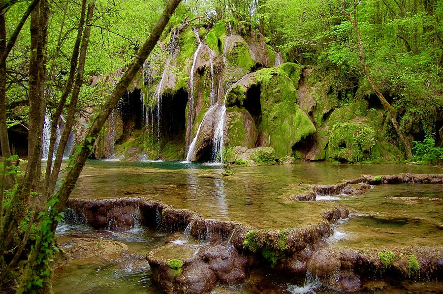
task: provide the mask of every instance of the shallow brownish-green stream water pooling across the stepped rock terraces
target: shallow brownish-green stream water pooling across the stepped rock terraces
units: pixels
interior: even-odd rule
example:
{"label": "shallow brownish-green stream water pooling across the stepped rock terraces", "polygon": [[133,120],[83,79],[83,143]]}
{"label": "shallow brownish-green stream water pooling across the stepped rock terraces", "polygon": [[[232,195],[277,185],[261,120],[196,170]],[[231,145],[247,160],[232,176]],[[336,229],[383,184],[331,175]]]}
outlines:
{"label": "shallow brownish-green stream water pooling across the stepped rock terraces", "polygon": [[[349,217],[334,226],[330,246],[361,249],[388,245],[443,244],[443,185],[378,185],[362,195],[318,197],[315,202],[286,200],[293,189],[332,184],[359,175],[442,173],[441,168],[404,164],[341,165],[301,162],[293,165],[233,167],[234,176],[220,176],[217,164],[170,161],[89,161],[71,194],[78,199],[147,197],[175,208],[197,211],[205,218],[235,221],[256,228],[285,229],[318,221],[321,209],[339,203]],[[177,234],[177,233],[176,233]],[[75,237],[116,240],[144,256],[164,244],[170,233],[135,226],[127,232],[96,231],[84,225],[60,224],[59,243]],[[203,241],[179,238],[197,248]],[[162,293],[145,261],[128,257],[120,265],[69,265],[55,270],[55,293]],[[435,292],[437,282],[395,282],[379,293]],[[245,284],[217,286],[213,293],[334,293],[315,277],[294,277],[272,268],[251,272]]]}

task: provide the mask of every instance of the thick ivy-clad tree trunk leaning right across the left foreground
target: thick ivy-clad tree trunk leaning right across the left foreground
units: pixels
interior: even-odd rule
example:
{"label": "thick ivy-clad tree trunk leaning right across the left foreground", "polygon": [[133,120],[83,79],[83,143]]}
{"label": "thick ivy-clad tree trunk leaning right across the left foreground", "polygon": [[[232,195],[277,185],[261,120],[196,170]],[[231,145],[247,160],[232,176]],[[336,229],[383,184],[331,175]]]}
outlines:
{"label": "thick ivy-clad tree trunk leaning right across the left foreground", "polygon": [[91,154],[95,140],[106,122],[106,119],[109,117],[112,109],[134,79],[136,73],[140,70],[143,62],[151,54],[151,51],[157,44],[161,33],[180,1],[181,0],[169,0],[163,14],[151,31],[148,40],[146,40],[140,48],[135,59],[129,64],[127,71],[117,83],[112,94],[106,100],[98,116],[92,122],[85,140],[80,145],[80,150],[69,163],[67,167],[68,173],[64,178],[61,187],[54,194],[52,199],[48,201],[48,205],[51,205],[51,209],[48,209],[45,214],[41,215],[40,225],[38,227],[40,234],[37,235],[35,245],[29,255],[25,276],[20,281],[18,293],[47,292],[51,288],[48,273],[50,272],[51,266],[50,259],[53,253],[52,246],[54,234],[69,195],[80,176],[80,172],[82,171],[86,160]]}

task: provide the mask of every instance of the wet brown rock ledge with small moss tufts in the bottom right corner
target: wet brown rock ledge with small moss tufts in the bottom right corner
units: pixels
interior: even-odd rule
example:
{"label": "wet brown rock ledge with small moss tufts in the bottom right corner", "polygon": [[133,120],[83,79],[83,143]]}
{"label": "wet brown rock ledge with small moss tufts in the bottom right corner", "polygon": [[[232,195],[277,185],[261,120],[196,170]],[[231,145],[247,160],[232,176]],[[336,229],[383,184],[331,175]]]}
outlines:
{"label": "wet brown rock ledge with small moss tufts in the bottom right corner", "polygon": [[314,252],[308,270],[338,291],[359,291],[362,278],[388,276],[402,279],[432,278],[442,274],[442,248],[405,247],[350,250],[323,248]]}

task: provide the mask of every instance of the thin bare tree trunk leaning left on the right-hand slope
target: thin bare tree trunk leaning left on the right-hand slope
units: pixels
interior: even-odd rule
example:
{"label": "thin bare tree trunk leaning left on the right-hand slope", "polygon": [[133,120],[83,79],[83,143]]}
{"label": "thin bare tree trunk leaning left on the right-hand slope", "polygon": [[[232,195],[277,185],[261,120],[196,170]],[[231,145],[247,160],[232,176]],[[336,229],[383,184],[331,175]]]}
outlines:
{"label": "thin bare tree trunk leaning left on the right-hand slope", "polygon": [[358,58],[360,59],[361,66],[363,67],[363,72],[365,73],[366,80],[368,80],[368,83],[371,85],[371,87],[374,90],[374,92],[376,93],[377,97],[379,97],[380,102],[383,105],[384,109],[386,109],[389,112],[389,114],[391,116],[392,125],[394,126],[394,129],[397,132],[398,137],[400,138],[400,140],[403,143],[403,146],[405,147],[406,157],[408,159],[411,159],[412,158],[411,144],[410,144],[408,138],[406,138],[405,134],[403,134],[402,130],[400,129],[400,125],[398,124],[398,121],[397,121],[397,113],[396,113],[395,109],[389,104],[389,102],[387,102],[387,100],[384,98],[383,94],[381,94],[379,88],[377,88],[376,84],[371,79],[371,75],[369,74],[368,67],[366,66],[365,56],[364,56],[364,47],[363,47],[363,38],[361,37],[360,29],[358,28],[358,24],[357,24],[357,5],[359,3],[360,3],[360,1],[354,1],[354,9],[353,9],[354,19],[352,19],[350,17],[350,15],[346,12],[345,5],[343,6],[342,14],[352,24],[352,27],[354,28],[355,33],[357,35]]}

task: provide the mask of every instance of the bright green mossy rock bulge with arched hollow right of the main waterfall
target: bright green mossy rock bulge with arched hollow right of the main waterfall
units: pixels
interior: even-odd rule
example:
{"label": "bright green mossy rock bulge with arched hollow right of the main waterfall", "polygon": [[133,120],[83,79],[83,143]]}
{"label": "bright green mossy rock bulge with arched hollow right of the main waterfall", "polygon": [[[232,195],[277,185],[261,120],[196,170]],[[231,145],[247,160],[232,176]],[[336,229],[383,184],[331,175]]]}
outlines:
{"label": "bright green mossy rock bulge with arched hollow right of the main waterfall", "polygon": [[[245,76],[227,96],[228,106],[243,106],[246,110],[252,104],[260,106],[253,116],[257,145],[273,147],[279,157],[291,155],[294,144],[316,132],[309,116],[297,105],[294,83],[298,84],[302,69],[285,63],[258,70]],[[248,95],[251,88],[259,89],[259,97]]]}

